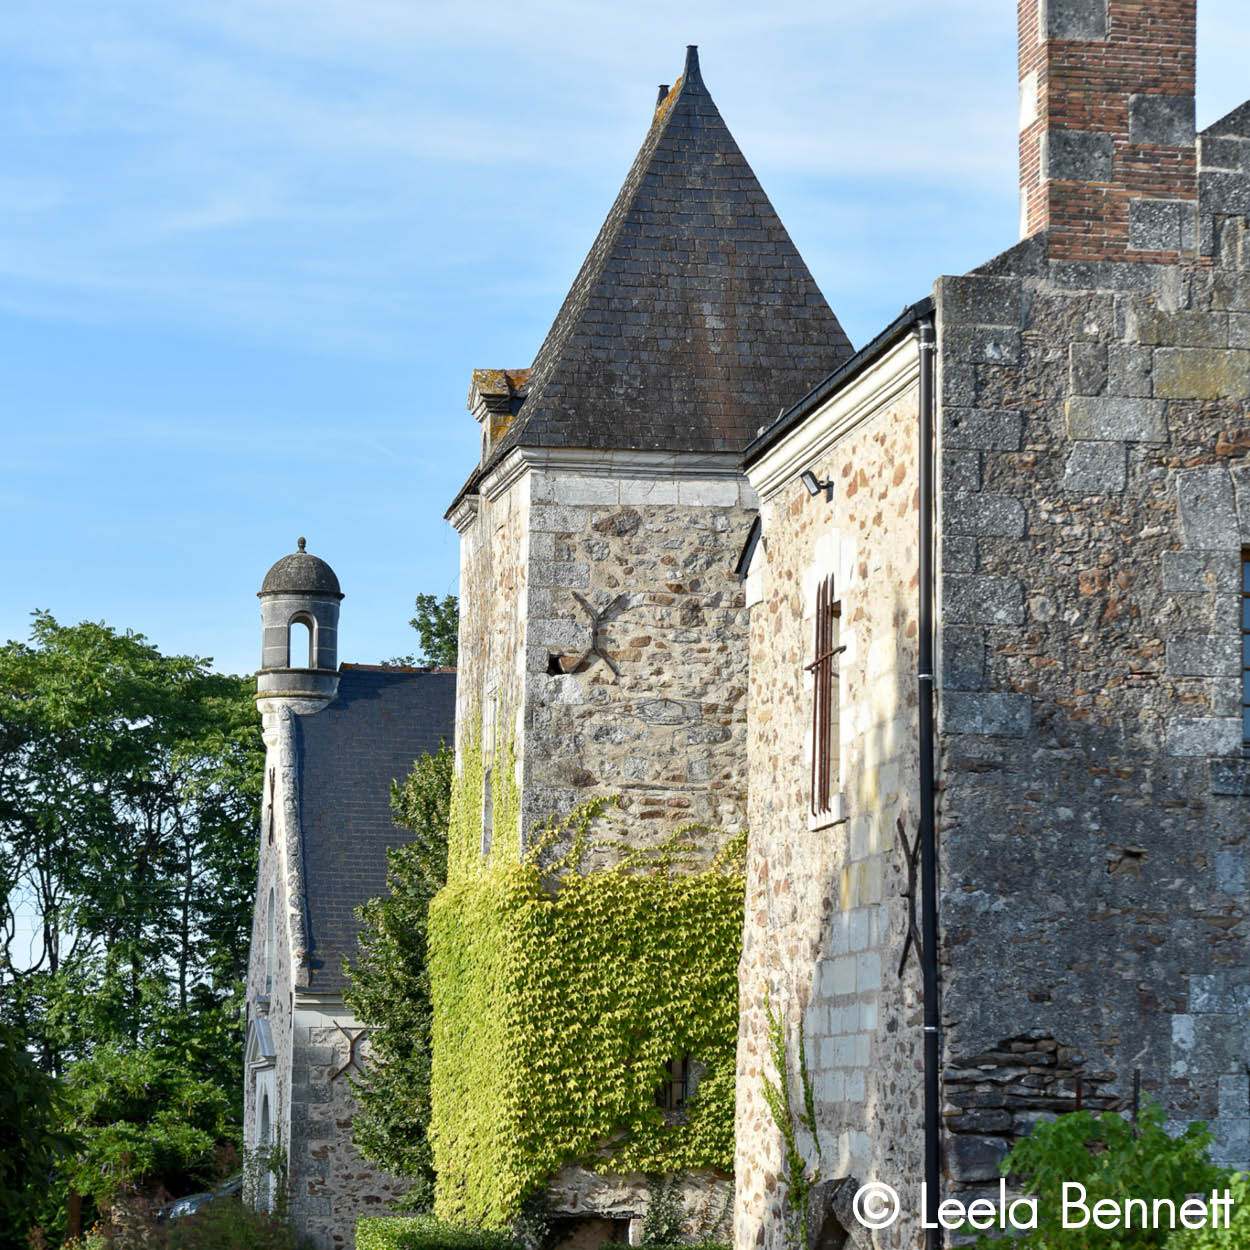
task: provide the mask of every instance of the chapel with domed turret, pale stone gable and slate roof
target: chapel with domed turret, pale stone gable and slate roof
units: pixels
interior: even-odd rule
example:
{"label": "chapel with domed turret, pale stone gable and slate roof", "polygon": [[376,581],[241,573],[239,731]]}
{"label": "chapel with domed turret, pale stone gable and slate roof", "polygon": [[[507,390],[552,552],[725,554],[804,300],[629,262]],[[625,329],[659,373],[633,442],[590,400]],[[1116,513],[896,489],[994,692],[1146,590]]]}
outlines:
{"label": "chapel with domed turret, pale stone gable and slate roof", "polygon": [[265,788],[244,1062],[244,1140],[252,1158],[281,1159],[251,1195],[288,1211],[318,1250],[350,1250],[356,1218],[408,1181],[351,1142],[351,1076],[369,1035],[344,1002],[356,956],[355,909],[386,889],[386,850],[411,839],[391,820],[390,785],[454,732],[455,672],[339,668],[334,570],[299,550],[260,589],[256,708]]}

